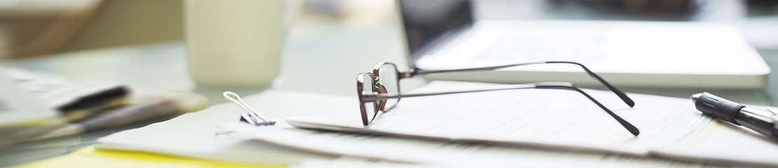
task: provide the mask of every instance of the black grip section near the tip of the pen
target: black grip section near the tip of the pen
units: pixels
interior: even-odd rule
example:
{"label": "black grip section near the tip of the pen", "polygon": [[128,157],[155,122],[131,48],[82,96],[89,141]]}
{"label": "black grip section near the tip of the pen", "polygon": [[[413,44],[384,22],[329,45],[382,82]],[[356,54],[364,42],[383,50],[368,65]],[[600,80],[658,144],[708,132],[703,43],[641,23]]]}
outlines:
{"label": "black grip section near the tip of the pen", "polygon": [[697,110],[702,111],[703,114],[708,114],[734,124],[737,124],[734,118],[738,116],[741,108],[745,107],[742,104],[725,100],[724,98],[710,93],[703,93],[695,101],[694,105],[697,107]]}

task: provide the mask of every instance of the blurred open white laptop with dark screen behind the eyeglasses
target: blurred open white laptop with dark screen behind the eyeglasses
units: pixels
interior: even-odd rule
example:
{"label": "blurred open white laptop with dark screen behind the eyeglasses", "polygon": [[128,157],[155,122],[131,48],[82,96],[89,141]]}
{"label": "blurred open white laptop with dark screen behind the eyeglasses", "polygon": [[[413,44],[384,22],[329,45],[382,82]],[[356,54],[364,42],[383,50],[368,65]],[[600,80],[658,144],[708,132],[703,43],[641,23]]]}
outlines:
{"label": "blurred open white laptop with dark screen behind the eyeglasses", "polygon": [[[398,0],[412,68],[442,70],[574,61],[615,86],[759,89],[770,68],[739,30],[722,23],[476,20],[468,0]],[[472,82],[599,86],[576,65],[426,75]]]}

